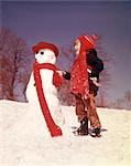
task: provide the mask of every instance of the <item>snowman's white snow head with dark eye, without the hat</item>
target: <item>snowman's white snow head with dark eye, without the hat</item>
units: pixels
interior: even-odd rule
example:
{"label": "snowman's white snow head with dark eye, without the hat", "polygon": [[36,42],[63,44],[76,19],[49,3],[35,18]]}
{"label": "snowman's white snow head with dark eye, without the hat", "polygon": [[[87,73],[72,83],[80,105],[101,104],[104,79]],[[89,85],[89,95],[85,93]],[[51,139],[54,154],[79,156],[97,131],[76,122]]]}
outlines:
{"label": "snowman's white snow head with dark eye, without the hat", "polygon": [[35,52],[35,59],[37,63],[52,63],[55,64],[56,62],[56,55],[55,53],[50,49],[41,49]]}

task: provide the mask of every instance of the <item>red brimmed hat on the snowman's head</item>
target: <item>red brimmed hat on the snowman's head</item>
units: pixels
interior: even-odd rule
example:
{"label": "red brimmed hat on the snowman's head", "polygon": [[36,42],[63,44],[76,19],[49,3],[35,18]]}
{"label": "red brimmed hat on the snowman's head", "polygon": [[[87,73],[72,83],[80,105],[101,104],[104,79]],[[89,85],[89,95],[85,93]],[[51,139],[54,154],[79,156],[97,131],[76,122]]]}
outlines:
{"label": "red brimmed hat on the snowman's head", "polygon": [[34,53],[41,49],[50,49],[55,53],[56,56],[58,55],[58,49],[54,44],[46,43],[46,42],[40,42],[36,45],[32,46],[32,51]]}

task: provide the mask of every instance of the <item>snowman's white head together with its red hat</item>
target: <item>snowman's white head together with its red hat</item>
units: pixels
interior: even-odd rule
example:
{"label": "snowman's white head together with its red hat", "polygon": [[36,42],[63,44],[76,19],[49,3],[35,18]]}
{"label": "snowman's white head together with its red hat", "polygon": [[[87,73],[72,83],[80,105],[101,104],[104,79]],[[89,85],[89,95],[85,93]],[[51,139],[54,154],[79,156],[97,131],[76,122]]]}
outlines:
{"label": "snowman's white head together with its red hat", "polygon": [[58,50],[54,44],[40,42],[32,48],[37,63],[55,64]]}

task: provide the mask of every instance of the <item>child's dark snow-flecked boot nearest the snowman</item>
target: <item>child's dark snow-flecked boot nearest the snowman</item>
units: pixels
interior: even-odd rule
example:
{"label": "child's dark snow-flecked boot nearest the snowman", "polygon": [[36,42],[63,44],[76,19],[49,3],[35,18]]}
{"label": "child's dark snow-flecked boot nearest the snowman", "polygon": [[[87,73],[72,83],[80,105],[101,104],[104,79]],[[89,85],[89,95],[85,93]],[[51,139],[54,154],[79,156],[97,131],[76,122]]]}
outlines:
{"label": "child's dark snow-flecked boot nearest the snowman", "polygon": [[84,117],[84,120],[80,121],[80,126],[77,131],[74,131],[74,134],[76,136],[88,135],[88,118],[87,117]]}

